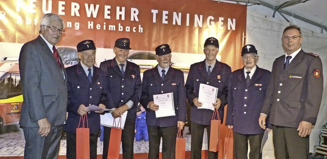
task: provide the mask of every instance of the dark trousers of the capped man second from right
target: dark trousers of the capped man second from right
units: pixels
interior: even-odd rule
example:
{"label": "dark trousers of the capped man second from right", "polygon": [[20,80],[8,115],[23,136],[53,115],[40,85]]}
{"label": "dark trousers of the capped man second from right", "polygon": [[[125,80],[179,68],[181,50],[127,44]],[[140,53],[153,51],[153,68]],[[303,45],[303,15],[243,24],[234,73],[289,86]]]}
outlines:
{"label": "dark trousers of the capped man second from right", "polygon": [[247,159],[250,145],[250,159],[261,159],[261,142],[264,134],[241,134],[233,132],[234,159]]}

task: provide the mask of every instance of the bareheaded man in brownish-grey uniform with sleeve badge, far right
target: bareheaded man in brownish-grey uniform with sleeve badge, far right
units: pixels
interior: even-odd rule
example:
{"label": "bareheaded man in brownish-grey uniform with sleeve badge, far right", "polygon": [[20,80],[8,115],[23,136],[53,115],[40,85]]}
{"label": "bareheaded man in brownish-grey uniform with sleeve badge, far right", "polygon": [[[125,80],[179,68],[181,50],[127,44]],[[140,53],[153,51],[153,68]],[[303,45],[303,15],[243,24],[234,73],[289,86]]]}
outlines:
{"label": "bareheaded man in brownish-grey uniform with sleeve badge, far right", "polygon": [[321,104],[323,78],[318,55],[301,49],[297,26],[282,36],[283,56],[275,59],[259,125],[272,124],[275,158],[308,158],[309,134]]}

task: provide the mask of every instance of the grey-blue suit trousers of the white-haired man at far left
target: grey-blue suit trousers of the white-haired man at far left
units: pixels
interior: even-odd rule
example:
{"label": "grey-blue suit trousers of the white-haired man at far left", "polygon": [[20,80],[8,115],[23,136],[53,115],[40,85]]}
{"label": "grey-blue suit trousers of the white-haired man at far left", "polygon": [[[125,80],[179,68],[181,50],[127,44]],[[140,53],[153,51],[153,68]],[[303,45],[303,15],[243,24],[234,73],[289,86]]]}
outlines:
{"label": "grey-blue suit trousers of the white-haired man at far left", "polygon": [[53,159],[58,157],[62,125],[52,126],[46,137],[38,134],[38,127],[22,127],[25,137],[25,159]]}

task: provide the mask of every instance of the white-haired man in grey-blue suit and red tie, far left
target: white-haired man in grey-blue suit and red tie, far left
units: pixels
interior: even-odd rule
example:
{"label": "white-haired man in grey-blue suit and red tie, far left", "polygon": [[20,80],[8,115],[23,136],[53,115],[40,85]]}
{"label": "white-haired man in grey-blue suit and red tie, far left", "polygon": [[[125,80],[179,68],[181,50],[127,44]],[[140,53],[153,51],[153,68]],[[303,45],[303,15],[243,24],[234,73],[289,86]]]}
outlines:
{"label": "white-haired man in grey-blue suit and red tie, far left", "polygon": [[41,19],[40,35],[22,46],[19,71],[24,102],[19,125],[24,130],[25,158],[57,158],[66,120],[66,71],[56,49],[63,31],[56,14]]}

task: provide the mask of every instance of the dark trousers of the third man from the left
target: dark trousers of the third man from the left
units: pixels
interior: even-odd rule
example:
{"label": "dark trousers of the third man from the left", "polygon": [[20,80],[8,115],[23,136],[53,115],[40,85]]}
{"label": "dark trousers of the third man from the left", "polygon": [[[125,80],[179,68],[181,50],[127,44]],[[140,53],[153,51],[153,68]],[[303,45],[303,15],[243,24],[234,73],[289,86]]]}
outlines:
{"label": "dark trousers of the third man from the left", "polygon": [[[108,156],[108,147],[110,140],[110,127],[104,127],[103,131],[103,153],[102,158],[106,159]],[[134,136],[135,136],[135,118],[126,119],[124,129],[122,131],[122,148],[123,148],[123,159],[133,159],[134,151]]]}

